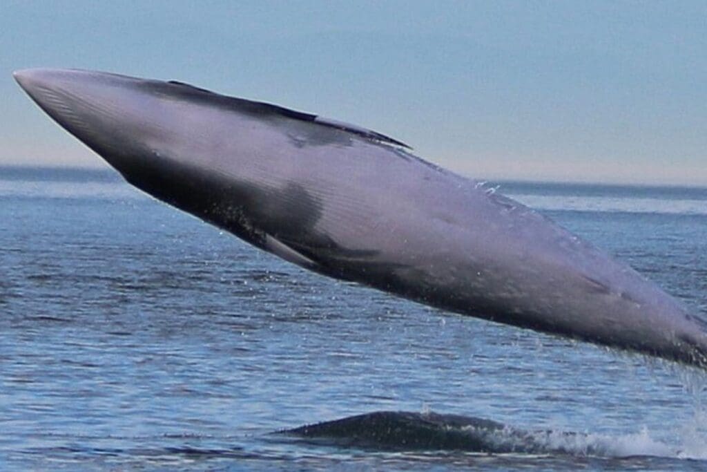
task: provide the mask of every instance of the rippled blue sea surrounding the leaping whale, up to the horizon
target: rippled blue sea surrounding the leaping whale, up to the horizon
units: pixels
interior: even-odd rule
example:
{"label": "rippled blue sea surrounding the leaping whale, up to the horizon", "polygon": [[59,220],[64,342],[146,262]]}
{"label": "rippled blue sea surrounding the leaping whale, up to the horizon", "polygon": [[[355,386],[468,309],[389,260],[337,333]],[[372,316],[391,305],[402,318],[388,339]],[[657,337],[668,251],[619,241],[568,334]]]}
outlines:
{"label": "rippled blue sea surrounding the leaping whale, up to the horizon", "polygon": [[[707,189],[498,191],[707,316]],[[0,168],[0,267],[3,469],[707,468],[700,376],[313,275],[115,173]],[[486,418],[547,447],[268,434],[375,410]]]}

